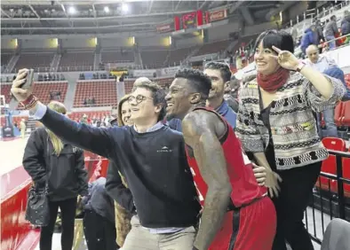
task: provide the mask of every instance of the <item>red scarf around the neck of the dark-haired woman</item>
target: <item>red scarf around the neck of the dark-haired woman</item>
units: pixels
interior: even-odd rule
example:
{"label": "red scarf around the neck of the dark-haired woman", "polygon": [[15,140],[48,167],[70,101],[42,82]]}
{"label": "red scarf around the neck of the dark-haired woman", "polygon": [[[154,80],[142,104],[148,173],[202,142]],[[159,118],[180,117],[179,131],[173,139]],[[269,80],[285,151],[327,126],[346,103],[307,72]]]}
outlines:
{"label": "red scarf around the neck of the dark-haired woman", "polygon": [[263,75],[258,73],[257,81],[261,89],[266,90],[267,92],[274,92],[287,82],[289,76],[290,71],[281,66],[273,74]]}

